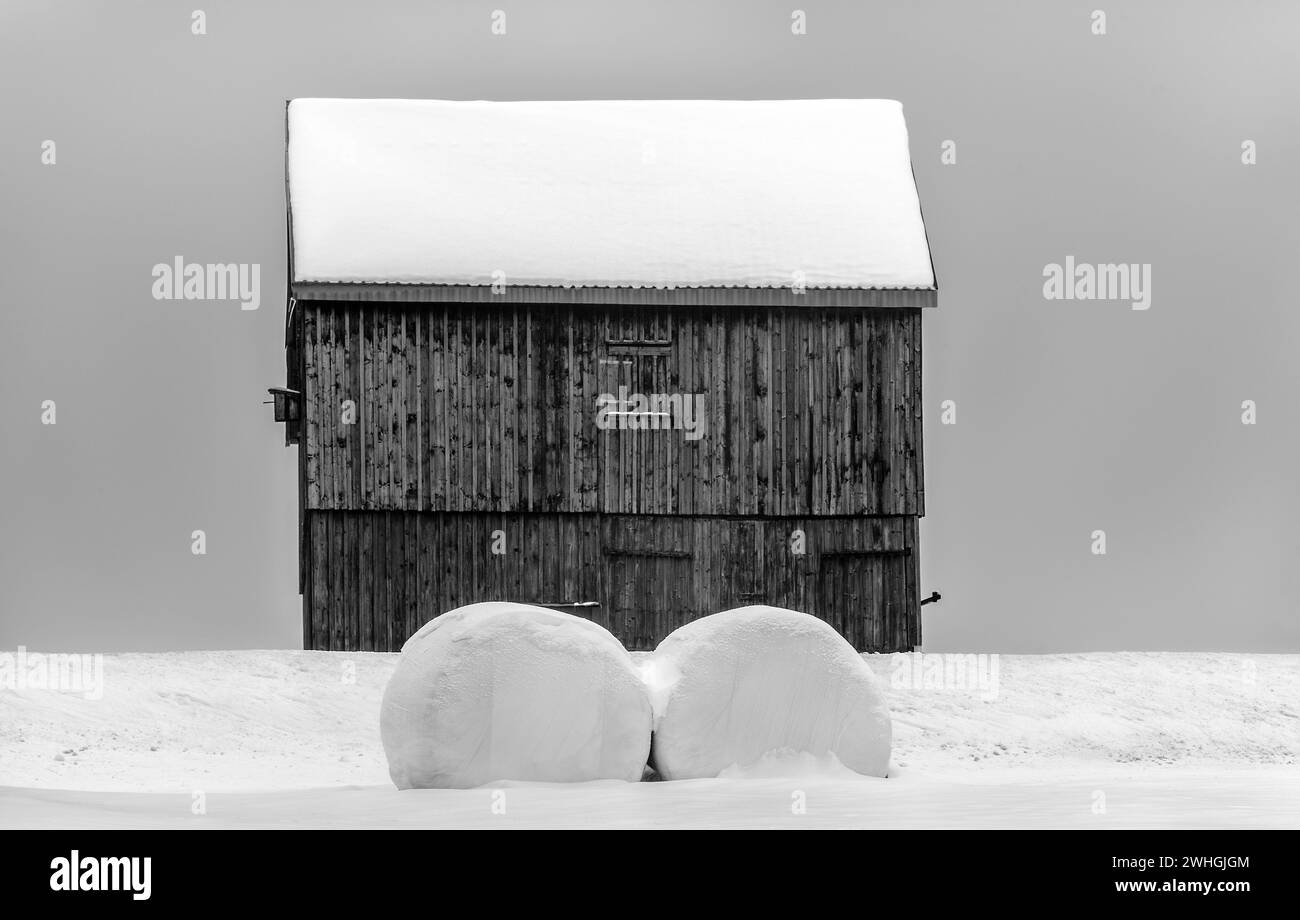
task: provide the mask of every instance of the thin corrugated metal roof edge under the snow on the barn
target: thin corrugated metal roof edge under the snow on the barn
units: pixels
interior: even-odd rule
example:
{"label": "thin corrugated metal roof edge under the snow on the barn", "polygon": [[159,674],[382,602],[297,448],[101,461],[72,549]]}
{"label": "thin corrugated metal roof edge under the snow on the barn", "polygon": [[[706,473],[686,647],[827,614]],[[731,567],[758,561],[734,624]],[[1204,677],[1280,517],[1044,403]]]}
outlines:
{"label": "thin corrugated metal roof edge under the snow on the barn", "polygon": [[656,307],[937,307],[936,287],[560,287],[298,281],[299,300],[384,303],[645,304]]}

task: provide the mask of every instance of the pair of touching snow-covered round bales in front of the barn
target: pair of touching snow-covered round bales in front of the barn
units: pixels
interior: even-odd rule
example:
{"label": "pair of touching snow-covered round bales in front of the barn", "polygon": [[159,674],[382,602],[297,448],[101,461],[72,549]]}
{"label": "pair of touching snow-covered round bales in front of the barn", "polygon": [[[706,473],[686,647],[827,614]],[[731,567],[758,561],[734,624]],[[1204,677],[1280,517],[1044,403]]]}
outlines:
{"label": "pair of touching snow-covered round bales in front of the barn", "polygon": [[875,676],[816,617],[742,607],[673,632],[641,672],[589,620],[472,604],[407,641],[381,734],[400,789],[494,780],[667,780],[801,755],[884,776],[890,726]]}

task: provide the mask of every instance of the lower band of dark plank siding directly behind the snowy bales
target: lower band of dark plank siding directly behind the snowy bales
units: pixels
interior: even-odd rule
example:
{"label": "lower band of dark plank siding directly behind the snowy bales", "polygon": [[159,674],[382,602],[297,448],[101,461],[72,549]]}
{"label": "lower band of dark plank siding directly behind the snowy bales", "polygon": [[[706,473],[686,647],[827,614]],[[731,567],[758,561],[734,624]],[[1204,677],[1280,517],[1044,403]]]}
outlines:
{"label": "lower band of dark plank siding directly behind the snowy bales", "polygon": [[395,651],[445,611],[502,599],[597,602],[568,612],[629,648],[758,603],[819,616],[861,651],[920,643],[915,517],[312,511],[306,526],[308,648]]}

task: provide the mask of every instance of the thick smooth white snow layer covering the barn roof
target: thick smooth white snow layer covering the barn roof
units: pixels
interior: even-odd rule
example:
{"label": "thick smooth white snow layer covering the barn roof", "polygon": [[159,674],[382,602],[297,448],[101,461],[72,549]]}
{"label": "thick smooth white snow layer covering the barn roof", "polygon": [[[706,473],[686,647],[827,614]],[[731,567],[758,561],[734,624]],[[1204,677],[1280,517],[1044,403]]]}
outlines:
{"label": "thick smooth white snow layer covering the barn roof", "polygon": [[935,286],[892,100],[296,99],[289,177],[299,282]]}

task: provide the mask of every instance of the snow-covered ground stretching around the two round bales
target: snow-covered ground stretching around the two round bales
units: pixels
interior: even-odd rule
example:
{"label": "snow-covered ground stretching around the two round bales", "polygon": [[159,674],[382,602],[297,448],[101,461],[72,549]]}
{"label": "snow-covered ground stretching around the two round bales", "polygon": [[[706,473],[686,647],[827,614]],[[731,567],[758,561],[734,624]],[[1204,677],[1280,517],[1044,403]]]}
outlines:
{"label": "snow-covered ground stretching around the two round bales", "polygon": [[100,699],[0,689],[0,826],[1300,826],[1297,655],[868,655],[885,780],[793,760],[408,791],[380,743],[396,659],[108,655]]}

